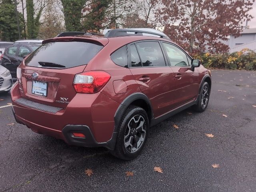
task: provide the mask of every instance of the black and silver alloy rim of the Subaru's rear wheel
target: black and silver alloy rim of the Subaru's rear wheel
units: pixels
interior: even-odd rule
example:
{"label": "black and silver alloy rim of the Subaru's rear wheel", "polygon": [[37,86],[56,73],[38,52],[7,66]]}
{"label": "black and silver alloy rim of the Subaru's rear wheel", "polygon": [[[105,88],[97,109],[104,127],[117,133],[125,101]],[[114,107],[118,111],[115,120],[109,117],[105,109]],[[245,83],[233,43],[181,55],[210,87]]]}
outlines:
{"label": "black and silver alloy rim of the Subaru's rear wheel", "polygon": [[125,134],[124,146],[130,153],[138,151],[146,136],[146,122],[141,115],[135,115],[129,121]]}

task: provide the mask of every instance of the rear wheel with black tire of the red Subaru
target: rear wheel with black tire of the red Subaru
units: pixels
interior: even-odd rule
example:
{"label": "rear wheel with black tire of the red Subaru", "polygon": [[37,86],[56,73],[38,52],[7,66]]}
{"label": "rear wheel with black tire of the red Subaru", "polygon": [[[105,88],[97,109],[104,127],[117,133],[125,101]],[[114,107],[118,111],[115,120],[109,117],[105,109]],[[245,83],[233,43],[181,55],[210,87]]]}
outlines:
{"label": "rear wheel with black tire of the red Subaru", "polygon": [[146,111],[137,106],[129,106],[119,124],[116,146],[110,153],[122,160],[136,158],[146,144],[149,120]]}

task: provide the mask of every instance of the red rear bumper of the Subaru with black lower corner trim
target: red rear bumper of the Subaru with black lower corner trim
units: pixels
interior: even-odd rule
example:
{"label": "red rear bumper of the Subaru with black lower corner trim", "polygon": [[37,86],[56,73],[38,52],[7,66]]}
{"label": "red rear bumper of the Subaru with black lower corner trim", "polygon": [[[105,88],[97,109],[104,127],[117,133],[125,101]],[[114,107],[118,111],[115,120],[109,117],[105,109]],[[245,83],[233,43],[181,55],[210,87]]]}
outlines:
{"label": "red rear bumper of the Subaru with black lower corner trim", "polygon": [[[77,94],[65,109],[56,113],[46,111],[48,108],[42,104],[20,100],[17,84],[13,86],[11,96],[16,121],[32,131],[62,139],[71,145],[114,149],[114,114],[119,104],[104,94]],[[38,108],[32,107],[34,105]],[[72,132],[83,133],[86,137],[76,138]]]}

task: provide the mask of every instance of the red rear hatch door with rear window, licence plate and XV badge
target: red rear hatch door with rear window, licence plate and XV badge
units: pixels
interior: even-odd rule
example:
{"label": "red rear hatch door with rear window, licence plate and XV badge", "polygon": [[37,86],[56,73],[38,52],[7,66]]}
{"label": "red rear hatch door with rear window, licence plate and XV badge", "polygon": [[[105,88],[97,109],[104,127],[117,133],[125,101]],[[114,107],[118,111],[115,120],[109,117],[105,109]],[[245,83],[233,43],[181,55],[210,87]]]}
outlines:
{"label": "red rear hatch door with rear window, licence plate and XV badge", "polygon": [[28,56],[21,68],[20,93],[27,100],[66,108],[74,98],[74,76],[103,48],[99,42],[54,41]]}

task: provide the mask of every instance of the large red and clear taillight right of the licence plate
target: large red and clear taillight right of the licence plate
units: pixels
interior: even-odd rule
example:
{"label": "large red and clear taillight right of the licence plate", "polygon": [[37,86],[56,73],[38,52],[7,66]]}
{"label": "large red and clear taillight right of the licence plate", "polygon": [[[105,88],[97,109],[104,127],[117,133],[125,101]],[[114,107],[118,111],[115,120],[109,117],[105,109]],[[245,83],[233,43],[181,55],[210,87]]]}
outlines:
{"label": "large red and clear taillight right of the licence plate", "polygon": [[96,93],[108,82],[110,74],[105,71],[88,71],[76,74],[74,89],[77,93]]}

